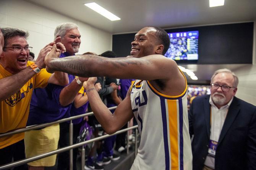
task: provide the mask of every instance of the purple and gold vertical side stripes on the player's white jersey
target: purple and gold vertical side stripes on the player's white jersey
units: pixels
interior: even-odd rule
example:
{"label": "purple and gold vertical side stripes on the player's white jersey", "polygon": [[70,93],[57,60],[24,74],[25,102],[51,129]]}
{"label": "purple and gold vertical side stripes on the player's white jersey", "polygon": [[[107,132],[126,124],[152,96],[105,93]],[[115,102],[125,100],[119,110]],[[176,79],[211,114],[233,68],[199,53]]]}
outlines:
{"label": "purple and gold vertical side stripes on the player's white jersey", "polygon": [[[162,122],[163,122],[165,169],[169,170],[171,166],[172,170],[175,170],[175,169],[183,170],[182,99],[178,99],[179,110],[177,110],[177,100],[165,100],[163,97],[160,97],[160,103],[161,103]],[[168,111],[168,114],[167,114],[167,111]],[[177,114],[177,111],[178,111],[178,114]],[[167,123],[167,119],[169,123]],[[179,125],[178,125],[178,121],[179,121]],[[169,130],[167,129],[168,127],[169,127]],[[168,134],[168,131],[169,131],[169,134]],[[171,157],[171,161],[170,161],[170,157]]]}

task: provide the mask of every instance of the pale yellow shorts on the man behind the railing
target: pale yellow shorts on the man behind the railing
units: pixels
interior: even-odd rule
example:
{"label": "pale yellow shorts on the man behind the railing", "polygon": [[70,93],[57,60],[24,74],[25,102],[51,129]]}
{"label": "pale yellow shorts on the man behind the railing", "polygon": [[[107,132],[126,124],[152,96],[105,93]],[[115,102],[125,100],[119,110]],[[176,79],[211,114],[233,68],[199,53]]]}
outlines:
{"label": "pale yellow shorts on the man behind the railing", "polygon": [[[47,153],[58,148],[60,138],[60,125],[54,124],[40,130],[31,130],[25,132],[25,153],[26,158]],[[33,167],[51,167],[55,165],[56,154],[48,156],[33,162],[28,165]]]}

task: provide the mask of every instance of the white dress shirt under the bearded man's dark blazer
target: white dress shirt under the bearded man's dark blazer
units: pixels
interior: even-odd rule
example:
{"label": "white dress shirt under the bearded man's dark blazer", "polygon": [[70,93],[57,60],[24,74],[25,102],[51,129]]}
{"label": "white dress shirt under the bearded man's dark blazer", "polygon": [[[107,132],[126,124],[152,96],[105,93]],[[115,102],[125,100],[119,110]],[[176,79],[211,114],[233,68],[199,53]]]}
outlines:
{"label": "white dress shirt under the bearded man's dark blazer", "polygon": [[[214,102],[212,101],[212,97],[210,97],[209,103],[211,104],[211,131],[210,131],[210,140],[219,141],[220,132],[222,130],[222,127],[224,125],[228,108],[233,100],[232,99],[227,103],[227,105],[222,106],[220,109],[215,106]],[[215,168],[214,165],[215,158],[213,156],[209,156],[209,154],[206,156],[204,165],[207,167],[210,167],[212,169]]]}

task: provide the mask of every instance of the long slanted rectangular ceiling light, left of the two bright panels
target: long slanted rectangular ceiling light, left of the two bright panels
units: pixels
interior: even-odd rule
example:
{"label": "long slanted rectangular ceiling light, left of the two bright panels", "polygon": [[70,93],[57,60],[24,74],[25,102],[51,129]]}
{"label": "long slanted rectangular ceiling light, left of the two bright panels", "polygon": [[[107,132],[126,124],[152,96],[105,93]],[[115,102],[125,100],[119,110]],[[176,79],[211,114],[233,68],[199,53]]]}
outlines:
{"label": "long slanted rectangular ceiling light, left of the two bright panels", "polygon": [[106,17],[111,21],[120,20],[120,17],[115,16],[114,14],[110,13],[108,10],[103,8],[102,6],[98,5],[95,2],[92,3],[85,3],[85,6],[91,8],[92,10],[96,11],[97,13],[101,14],[102,16]]}

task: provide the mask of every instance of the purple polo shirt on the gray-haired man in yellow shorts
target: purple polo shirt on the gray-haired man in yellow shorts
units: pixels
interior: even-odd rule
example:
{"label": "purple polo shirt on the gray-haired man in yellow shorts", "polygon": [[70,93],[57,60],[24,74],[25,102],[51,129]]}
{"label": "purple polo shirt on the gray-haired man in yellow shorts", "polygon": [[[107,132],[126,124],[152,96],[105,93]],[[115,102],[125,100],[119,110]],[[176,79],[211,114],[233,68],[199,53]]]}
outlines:
{"label": "purple polo shirt on the gray-haired man in yellow shorts", "polygon": [[[60,55],[60,58],[71,56],[67,52]],[[75,76],[68,75],[69,83]],[[57,121],[70,117],[71,104],[61,106],[59,102],[60,92],[65,86],[48,84],[44,89],[34,89],[30,103],[27,126]]]}

